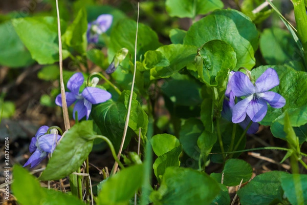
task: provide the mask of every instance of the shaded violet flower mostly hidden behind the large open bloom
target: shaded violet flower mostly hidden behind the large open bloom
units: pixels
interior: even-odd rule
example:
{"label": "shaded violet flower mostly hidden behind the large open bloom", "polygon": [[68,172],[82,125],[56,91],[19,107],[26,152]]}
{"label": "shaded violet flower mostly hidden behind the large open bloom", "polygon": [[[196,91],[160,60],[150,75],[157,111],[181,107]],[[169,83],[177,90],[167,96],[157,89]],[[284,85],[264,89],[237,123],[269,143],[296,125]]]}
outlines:
{"label": "shaded violet flower mostly hidden behind the large open bloom", "polygon": [[[233,107],[235,104],[235,96],[231,90],[231,79],[232,76],[235,72],[231,71],[229,73],[229,78],[228,78],[228,84],[227,84],[227,89],[225,92],[225,96],[228,99],[224,98],[224,102],[223,102],[223,110],[222,110],[222,116],[227,119],[228,121],[231,121],[232,118],[232,112],[233,112]],[[238,101],[242,100],[242,98],[237,98]],[[249,116],[246,116],[246,118],[239,123],[239,125],[243,128],[246,129],[247,126],[249,125],[251,121],[251,118]],[[253,122],[252,125],[250,126],[250,128],[248,129],[247,133],[248,134],[254,134],[258,131],[259,125],[257,122]]]}

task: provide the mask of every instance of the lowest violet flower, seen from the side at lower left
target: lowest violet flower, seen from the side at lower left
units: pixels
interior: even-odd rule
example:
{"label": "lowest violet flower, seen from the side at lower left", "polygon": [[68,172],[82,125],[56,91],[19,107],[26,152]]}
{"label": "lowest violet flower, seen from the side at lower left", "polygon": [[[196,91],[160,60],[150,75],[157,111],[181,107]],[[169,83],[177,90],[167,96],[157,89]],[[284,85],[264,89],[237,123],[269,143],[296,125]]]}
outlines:
{"label": "lowest violet flower, seen from the side at lower left", "polygon": [[61,135],[57,134],[56,129],[52,129],[48,134],[48,129],[48,126],[41,126],[37,130],[35,137],[32,137],[29,150],[33,154],[25,163],[24,167],[28,165],[31,165],[30,168],[36,167],[49,153],[54,151]]}

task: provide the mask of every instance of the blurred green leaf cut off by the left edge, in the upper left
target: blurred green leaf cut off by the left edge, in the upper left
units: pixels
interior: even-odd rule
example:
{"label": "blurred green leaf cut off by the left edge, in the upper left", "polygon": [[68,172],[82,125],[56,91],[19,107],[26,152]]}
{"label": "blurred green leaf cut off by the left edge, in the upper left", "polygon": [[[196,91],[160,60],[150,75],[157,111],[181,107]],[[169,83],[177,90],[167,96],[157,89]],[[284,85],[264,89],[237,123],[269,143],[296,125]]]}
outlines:
{"label": "blurred green leaf cut off by the left edge, in the upper left", "polygon": [[34,63],[30,52],[14,30],[12,22],[0,24],[0,36],[0,65],[17,68]]}

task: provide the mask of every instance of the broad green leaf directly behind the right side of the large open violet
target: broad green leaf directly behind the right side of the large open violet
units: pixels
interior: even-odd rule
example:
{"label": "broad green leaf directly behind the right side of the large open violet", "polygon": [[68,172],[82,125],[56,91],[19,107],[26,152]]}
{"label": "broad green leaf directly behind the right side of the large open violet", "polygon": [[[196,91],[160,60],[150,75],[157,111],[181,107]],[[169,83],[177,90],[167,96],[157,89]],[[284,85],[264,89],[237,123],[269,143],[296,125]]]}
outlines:
{"label": "broad green leaf directly behind the right side of the large open violet", "polygon": [[[279,77],[279,86],[271,89],[270,91],[277,92],[286,99],[286,105],[283,108],[272,108],[268,105],[268,112],[262,121],[261,125],[271,125],[272,122],[278,118],[284,111],[289,110],[289,117],[291,124],[305,124],[305,106],[307,96],[307,73],[303,71],[296,71],[288,66],[260,66],[252,70],[252,75],[257,79],[268,68],[276,70]],[[291,110],[290,110],[291,109]],[[292,116],[292,113],[300,113],[300,116]],[[292,120],[293,119],[293,120]],[[279,121],[280,120],[280,121]],[[303,122],[305,121],[305,123]],[[283,124],[281,119],[278,122]]]}

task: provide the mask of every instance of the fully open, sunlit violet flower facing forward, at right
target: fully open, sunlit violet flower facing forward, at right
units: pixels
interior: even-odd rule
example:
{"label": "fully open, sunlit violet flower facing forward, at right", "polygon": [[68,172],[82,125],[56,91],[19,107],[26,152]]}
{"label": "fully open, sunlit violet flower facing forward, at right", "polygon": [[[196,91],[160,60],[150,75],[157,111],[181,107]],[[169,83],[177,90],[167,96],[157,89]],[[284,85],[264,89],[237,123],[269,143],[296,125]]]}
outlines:
{"label": "fully open, sunlit violet flower facing forward, at right", "polygon": [[231,90],[236,97],[245,98],[233,107],[232,122],[242,122],[246,114],[253,122],[259,122],[267,114],[267,103],[273,108],[282,108],[286,105],[286,99],[280,94],[269,91],[278,85],[277,72],[272,68],[262,73],[255,85],[244,73],[235,72],[231,78]]}

